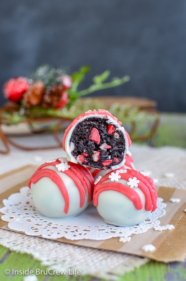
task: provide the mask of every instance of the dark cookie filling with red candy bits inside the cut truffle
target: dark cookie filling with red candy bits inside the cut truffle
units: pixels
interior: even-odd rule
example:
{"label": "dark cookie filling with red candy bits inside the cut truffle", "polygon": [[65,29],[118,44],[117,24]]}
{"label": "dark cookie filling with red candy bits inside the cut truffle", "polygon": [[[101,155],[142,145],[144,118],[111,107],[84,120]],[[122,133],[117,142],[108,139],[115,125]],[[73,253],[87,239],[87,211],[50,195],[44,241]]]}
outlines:
{"label": "dark cookie filling with red candy bits inside the cut truffle", "polygon": [[[118,165],[124,158],[125,138],[108,118],[86,118],[78,123],[70,138],[72,155],[78,163],[100,170]],[[100,148],[101,147],[101,148]]]}

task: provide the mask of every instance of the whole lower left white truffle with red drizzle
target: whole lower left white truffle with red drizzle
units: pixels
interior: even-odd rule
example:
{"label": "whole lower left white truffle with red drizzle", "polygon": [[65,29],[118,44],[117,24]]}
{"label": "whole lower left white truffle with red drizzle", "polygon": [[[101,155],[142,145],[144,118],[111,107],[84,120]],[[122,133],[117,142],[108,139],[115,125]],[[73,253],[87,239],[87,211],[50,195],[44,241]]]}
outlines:
{"label": "whole lower left white truffle with red drizzle", "polygon": [[47,217],[77,216],[92,199],[94,179],[83,166],[66,158],[41,165],[29,181],[33,203]]}

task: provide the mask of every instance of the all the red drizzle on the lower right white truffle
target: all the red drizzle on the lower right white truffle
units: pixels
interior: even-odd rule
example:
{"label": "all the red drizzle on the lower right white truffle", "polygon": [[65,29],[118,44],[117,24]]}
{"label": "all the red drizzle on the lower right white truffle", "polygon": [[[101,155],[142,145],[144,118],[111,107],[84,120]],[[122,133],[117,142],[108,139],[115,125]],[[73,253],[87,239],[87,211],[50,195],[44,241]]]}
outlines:
{"label": "all the red drizzle on the lower right white truffle", "polygon": [[[155,211],[157,208],[157,191],[153,184],[153,180],[150,179],[148,176],[144,176],[135,170],[126,169],[126,171],[126,173],[119,173],[121,179],[128,181],[129,178],[136,177],[139,180],[138,187],[144,193],[145,196],[145,210],[151,212]],[[95,185],[93,196],[94,206],[98,205],[98,196],[102,191],[115,190],[126,195],[133,202],[136,209],[141,210],[143,208],[143,204],[141,202],[139,194],[131,187],[123,185],[119,182],[104,183],[105,181],[109,180],[109,175],[111,175],[112,172],[113,171],[109,172],[104,177],[102,177],[100,181]]]}

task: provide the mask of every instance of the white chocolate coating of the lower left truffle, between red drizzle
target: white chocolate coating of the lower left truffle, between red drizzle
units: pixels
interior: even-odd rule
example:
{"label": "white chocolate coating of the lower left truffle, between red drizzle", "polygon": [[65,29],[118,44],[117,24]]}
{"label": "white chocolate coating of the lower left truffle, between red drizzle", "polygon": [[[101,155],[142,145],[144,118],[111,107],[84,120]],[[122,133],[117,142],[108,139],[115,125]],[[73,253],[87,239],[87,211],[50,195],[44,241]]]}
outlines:
{"label": "white chocolate coating of the lower left truffle, between red drizzle", "polygon": [[65,200],[59,187],[49,177],[42,177],[35,184],[31,183],[33,203],[38,211],[47,217],[68,218],[77,216],[85,210],[89,204],[88,192],[85,194],[83,206],[80,207],[80,193],[75,182],[65,173],[59,172],[55,166],[45,168],[55,171],[63,180],[69,195],[69,210],[65,214]]}

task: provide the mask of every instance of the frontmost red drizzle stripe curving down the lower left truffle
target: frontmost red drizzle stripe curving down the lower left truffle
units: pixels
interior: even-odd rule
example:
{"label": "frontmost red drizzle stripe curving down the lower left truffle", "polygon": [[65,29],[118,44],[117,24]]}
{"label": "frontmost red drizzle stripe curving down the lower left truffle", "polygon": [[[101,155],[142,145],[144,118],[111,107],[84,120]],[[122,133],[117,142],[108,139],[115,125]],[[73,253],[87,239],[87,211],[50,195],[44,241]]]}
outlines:
{"label": "frontmost red drizzle stripe curving down the lower left truffle", "polygon": [[56,174],[55,171],[46,168],[39,172],[36,171],[36,173],[32,177],[32,183],[35,184],[43,177],[49,177],[59,187],[65,201],[64,212],[65,214],[67,214],[69,210],[69,195],[64,185],[64,182],[62,181],[60,176]]}

